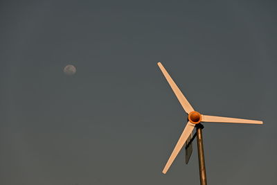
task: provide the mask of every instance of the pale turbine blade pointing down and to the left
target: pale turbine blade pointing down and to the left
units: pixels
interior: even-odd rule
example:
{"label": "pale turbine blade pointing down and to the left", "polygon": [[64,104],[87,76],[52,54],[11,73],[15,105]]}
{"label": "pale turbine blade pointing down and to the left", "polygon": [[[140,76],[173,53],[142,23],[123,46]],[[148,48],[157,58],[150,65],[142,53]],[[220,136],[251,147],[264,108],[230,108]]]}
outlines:
{"label": "pale turbine blade pointing down and to the left", "polygon": [[183,131],[183,133],[181,134],[172,154],[170,155],[168,162],[166,163],[165,168],[163,168],[163,173],[166,174],[166,172],[168,171],[168,168],[170,168],[172,162],[175,160],[175,158],[177,157],[178,153],[180,152],[181,148],[184,146],[186,140],[188,139],[188,136],[190,136],[191,132],[193,132],[193,129],[195,127],[195,124],[190,123],[188,121],[188,123],[186,124],[186,127]]}

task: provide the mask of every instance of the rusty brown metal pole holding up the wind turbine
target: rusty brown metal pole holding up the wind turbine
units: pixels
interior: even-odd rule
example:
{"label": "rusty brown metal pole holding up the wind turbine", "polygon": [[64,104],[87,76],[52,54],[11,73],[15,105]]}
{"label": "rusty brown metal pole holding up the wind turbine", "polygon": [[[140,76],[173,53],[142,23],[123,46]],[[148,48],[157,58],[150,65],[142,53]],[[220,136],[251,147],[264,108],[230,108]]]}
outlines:
{"label": "rusty brown metal pole holding up the wind turbine", "polygon": [[198,123],[196,126],[197,126],[196,132],[197,132],[197,149],[198,149],[198,160],[199,160],[200,184],[207,185],[203,137],[202,137],[202,129],[204,128],[204,126],[201,123]]}

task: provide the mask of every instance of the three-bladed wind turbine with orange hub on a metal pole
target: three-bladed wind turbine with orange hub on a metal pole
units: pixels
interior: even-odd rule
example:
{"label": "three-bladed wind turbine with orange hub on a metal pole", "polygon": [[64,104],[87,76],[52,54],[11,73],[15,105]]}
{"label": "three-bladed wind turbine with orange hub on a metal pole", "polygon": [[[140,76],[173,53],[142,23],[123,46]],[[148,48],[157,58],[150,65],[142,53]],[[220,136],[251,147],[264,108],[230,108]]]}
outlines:
{"label": "three-bladed wind turbine with orange hub on a metal pole", "polygon": [[[166,77],[170,87],[174,91],[175,95],[177,96],[179,103],[184,108],[185,112],[188,114],[188,123],[184,128],[177,144],[172,151],[166,166],[163,168],[163,173],[166,174],[168,168],[170,168],[172,162],[177,157],[178,153],[180,152],[181,148],[183,148],[184,144],[189,137],[191,136],[193,129],[197,128],[197,148],[198,148],[198,159],[199,159],[199,175],[200,175],[200,184],[206,185],[206,168],[205,168],[205,161],[204,161],[204,147],[203,147],[203,139],[202,139],[202,129],[203,125],[201,122],[217,122],[217,123],[247,123],[247,124],[262,124],[262,121],[255,121],[249,119],[242,119],[242,118],[227,118],[222,116],[208,116],[200,114],[196,112],[195,109],[190,105],[184,94],[181,93],[180,89],[177,87],[175,82],[172,80],[168,71],[163,67],[161,62],[158,62],[158,66],[163,73],[163,76]],[[188,143],[188,142],[187,142]]]}

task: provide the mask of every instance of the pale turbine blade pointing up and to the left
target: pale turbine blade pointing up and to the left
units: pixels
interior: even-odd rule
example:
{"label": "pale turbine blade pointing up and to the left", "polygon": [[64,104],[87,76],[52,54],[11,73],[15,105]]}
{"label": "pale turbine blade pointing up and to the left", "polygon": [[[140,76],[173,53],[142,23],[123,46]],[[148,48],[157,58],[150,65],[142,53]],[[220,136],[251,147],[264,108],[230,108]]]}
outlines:
{"label": "pale turbine blade pointing up and to the left", "polygon": [[168,80],[170,87],[174,91],[179,102],[181,103],[181,106],[184,108],[186,113],[189,114],[190,112],[194,111],[193,107],[191,107],[190,103],[188,103],[188,100],[185,98],[184,94],[181,93],[180,89],[177,87],[175,82],[172,80],[172,78],[168,74],[168,71],[166,71],[166,69],[163,67],[163,64],[161,64],[161,62],[158,62],[158,66],[161,69],[161,72],[163,72],[163,75],[166,77],[166,80]]}

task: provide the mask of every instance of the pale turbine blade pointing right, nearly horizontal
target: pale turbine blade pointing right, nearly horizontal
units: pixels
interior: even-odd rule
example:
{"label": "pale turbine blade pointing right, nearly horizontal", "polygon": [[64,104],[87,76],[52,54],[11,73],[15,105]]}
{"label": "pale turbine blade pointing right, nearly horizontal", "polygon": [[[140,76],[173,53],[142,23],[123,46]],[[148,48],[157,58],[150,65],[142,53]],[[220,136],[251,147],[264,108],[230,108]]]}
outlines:
{"label": "pale turbine blade pointing right, nearly horizontal", "polygon": [[241,118],[227,118],[221,116],[207,116],[202,115],[203,122],[220,122],[220,123],[249,123],[249,124],[262,124],[262,121],[241,119]]}

